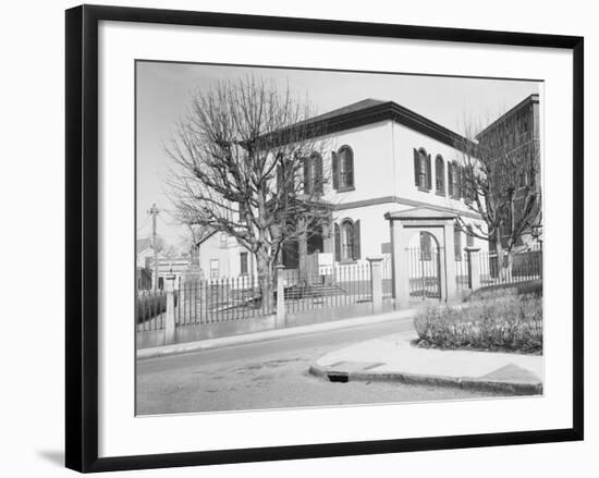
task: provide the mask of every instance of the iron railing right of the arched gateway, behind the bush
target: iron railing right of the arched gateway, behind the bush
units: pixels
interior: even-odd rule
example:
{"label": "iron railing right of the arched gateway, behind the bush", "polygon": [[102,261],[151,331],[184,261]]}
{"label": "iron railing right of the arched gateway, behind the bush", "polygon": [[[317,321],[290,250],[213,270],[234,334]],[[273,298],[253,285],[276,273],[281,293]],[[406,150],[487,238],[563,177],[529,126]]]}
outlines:
{"label": "iron railing right of the arched gateway, behind the bush", "polygon": [[512,268],[508,268],[509,257],[503,254],[502,270],[497,253],[480,253],[480,285],[497,285],[542,279],[542,244],[535,244],[512,254]]}

